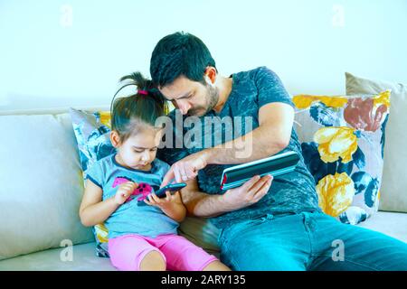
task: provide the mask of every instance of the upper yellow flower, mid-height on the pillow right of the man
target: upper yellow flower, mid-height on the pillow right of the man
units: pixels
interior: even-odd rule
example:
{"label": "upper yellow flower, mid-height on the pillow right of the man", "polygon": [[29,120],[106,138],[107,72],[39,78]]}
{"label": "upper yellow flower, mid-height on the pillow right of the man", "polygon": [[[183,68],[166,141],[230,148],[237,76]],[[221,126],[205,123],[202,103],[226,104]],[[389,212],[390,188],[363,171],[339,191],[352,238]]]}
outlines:
{"label": "upper yellow flower, mid-height on the pillow right of the man", "polygon": [[342,163],[352,161],[352,154],[357,150],[357,137],[354,133],[354,128],[346,126],[319,128],[314,135],[314,142],[319,144],[321,160],[333,163],[341,157]]}

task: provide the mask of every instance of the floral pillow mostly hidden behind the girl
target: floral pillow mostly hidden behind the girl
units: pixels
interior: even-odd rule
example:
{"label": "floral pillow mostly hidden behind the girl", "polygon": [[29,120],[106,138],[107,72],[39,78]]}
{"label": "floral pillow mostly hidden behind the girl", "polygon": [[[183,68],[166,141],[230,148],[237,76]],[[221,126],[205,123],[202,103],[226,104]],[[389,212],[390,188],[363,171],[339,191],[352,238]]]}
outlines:
{"label": "floral pillow mostly hidden behind the girl", "polygon": [[[93,163],[116,152],[109,138],[110,112],[86,112],[71,108],[70,115],[85,177],[86,171]],[[108,229],[99,224],[93,227],[93,234],[96,239],[96,255],[109,257]]]}

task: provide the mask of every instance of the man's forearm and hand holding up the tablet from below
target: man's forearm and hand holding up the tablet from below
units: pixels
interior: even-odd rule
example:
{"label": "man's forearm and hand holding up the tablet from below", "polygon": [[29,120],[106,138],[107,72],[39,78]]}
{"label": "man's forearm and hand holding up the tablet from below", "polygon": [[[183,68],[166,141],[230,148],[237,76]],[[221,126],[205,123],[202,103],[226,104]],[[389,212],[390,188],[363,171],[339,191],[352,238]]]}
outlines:
{"label": "man's forearm and hand holding up the tablet from below", "polygon": [[210,195],[199,191],[198,182],[194,179],[186,182],[181,196],[189,215],[211,218],[258,202],[269,191],[271,182],[269,175],[262,178],[254,176],[239,188],[222,195]]}

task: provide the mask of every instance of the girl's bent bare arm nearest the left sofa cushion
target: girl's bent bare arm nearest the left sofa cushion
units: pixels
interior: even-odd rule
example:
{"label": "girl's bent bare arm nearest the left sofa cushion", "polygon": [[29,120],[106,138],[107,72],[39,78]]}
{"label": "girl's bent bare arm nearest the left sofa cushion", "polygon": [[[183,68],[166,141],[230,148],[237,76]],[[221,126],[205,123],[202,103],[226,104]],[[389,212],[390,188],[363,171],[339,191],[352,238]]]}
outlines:
{"label": "girl's bent bare arm nearest the left sofa cushion", "polygon": [[99,186],[89,179],[86,180],[85,192],[80,203],[80,222],[83,226],[90,227],[103,223],[118,209],[119,204],[115,198],[102,201],[102,193]]}

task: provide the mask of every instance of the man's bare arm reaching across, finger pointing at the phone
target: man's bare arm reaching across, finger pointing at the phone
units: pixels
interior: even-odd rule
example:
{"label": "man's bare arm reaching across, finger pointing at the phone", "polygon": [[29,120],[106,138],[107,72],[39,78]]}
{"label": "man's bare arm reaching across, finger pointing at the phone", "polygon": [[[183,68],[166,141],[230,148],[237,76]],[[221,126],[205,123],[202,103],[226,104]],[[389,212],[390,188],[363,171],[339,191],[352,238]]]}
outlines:
{"label": "man's bare arm reaching across, finger pointing at the phone", "polygon": [[273,102],[260,107],[259,127],[234,140],[190,154],[171,166],[161,187],[170,180],[194,179],[206,165],[248,163],[279,153],[288,144],[294,122],[294,109],[287,103]]}

